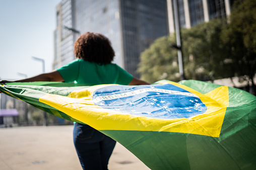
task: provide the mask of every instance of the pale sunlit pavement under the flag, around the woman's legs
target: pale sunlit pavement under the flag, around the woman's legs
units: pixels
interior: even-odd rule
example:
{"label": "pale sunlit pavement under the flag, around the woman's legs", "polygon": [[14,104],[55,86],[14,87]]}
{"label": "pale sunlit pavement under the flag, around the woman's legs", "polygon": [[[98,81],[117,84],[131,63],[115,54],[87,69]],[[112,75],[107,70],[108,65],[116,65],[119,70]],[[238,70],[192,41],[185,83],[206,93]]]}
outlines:
{"label": "pale sunlit pavement under the flag, around the woman's legs", "polygon": [[[72,125],[0,128],[0,170],[82,169],[72,131]],[[119,143],[108,167],[149,169]]]}

